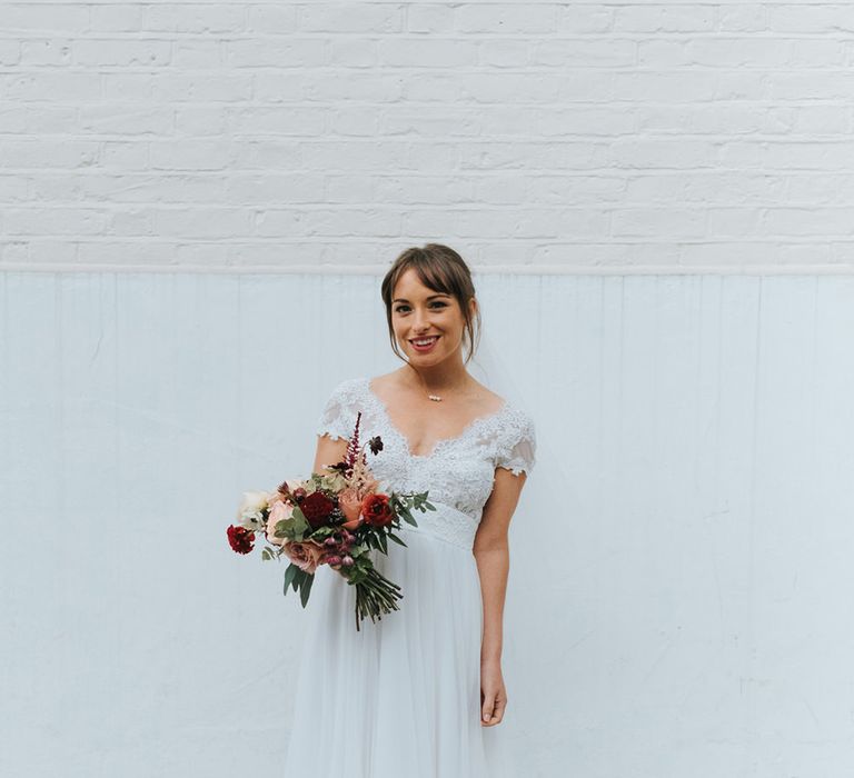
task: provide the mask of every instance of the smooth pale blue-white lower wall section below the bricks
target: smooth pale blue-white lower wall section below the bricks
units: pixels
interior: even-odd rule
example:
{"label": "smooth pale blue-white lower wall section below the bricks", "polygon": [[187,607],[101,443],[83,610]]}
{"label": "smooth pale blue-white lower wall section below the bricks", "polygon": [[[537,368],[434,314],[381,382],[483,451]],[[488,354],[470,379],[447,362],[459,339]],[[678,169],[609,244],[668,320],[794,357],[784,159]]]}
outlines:
{"label": "smooth pale blue-white lower wall section below the bricks", "polygon": [[[379,279],[0,279],[0,774],[279,775],[304,612],[224,530],[307,472],[338,380],[397,366]],[[524,775],[846,776],[854,279],[478,290],[544,463],[505,614]]]}

